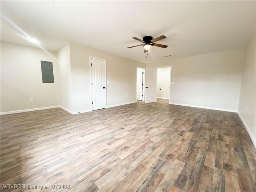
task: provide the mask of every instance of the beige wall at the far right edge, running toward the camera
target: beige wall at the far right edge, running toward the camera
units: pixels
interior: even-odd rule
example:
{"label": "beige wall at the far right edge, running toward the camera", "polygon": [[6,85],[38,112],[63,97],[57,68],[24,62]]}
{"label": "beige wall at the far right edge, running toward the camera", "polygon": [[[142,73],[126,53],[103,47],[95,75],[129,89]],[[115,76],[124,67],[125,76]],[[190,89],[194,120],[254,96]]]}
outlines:
{"label": "beige wall at the far right edge, running toward the camera", "polygon": [[[254,146],[256,147],[256,38],[255,34],[246,47],[245,65],[242,73],[242,84],[238,114],[243,120]],[[247,106],[247,110],[246,110]]]}

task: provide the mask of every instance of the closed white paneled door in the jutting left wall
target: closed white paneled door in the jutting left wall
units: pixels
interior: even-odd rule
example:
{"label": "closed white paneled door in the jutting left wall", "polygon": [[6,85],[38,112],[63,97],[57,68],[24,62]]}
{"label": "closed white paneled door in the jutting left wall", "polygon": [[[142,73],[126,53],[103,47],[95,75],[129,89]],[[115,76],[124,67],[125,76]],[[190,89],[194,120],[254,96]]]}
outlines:
{"label": "closed white paneled door in the jutting left wall", "polygon": [[106,62],[91,58],[92,110],[106,108]]}

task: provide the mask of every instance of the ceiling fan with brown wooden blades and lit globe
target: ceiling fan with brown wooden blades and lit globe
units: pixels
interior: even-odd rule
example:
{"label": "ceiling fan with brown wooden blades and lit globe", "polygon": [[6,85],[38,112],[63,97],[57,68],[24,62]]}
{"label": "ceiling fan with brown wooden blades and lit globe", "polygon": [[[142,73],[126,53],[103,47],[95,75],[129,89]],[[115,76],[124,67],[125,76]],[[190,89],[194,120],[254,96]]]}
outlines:
{"label": "ceiling fan with brown wooden blades and lit globe", "polygon": [[144,53],[148,52],[148,50],[150,49],[151,46],[162,47],[162,48],[168,47],[167,45],[162,45],[162,44],[154,43],[156,41],[165,39],[166,36],[164,36],[164,35],[162,35],[160,37],[157,37],[157,38],[154,38],[154,39],[151,36],[145,36],[145,37],[143,37],[143,40],[141,40],[139,38],[136,38],[136,37],[132,37],[132,38],[135,39],[135,40],[138,40],[138,41],[140,41],[140,42],[142,42],[144,44],[135,45],[135,46],[131,46],[131,47],[128,47],[128,48],[138,47],[138,46],[142,46],[143,45]]}

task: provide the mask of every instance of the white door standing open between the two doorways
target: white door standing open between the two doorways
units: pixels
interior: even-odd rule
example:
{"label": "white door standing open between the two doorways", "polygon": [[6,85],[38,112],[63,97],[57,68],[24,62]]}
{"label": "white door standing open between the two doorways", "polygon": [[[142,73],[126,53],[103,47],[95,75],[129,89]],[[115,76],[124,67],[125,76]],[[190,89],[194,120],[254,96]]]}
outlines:
{"label": "white door standing open between the two doorways", "polygon": [[156,102],[156,68],[146,68],[146,97],[145,103]]}

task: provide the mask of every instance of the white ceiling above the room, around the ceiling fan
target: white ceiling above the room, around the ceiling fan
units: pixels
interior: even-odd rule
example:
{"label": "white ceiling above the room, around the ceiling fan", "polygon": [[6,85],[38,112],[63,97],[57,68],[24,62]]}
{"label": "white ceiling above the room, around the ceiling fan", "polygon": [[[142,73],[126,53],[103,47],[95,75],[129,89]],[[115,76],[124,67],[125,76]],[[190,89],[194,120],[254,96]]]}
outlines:
{"label": "white ceiling above the room, around the ceiling fan", "polygon": [[[36,46],[27,34],[47,50],[73,42],[150,63],[242,47],[255,15],[256,1],[1,0],[1,40]],[[141,44],[132,37],[161,35],[167,38],[156,43],[168,48],[152,47],[148,58],[142,46],[127,49]]]}

